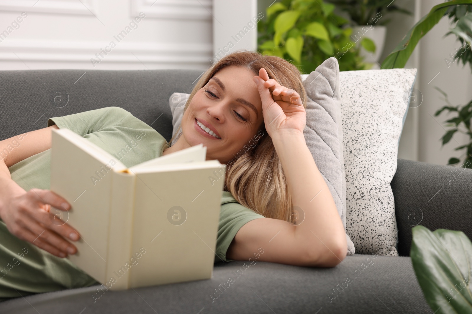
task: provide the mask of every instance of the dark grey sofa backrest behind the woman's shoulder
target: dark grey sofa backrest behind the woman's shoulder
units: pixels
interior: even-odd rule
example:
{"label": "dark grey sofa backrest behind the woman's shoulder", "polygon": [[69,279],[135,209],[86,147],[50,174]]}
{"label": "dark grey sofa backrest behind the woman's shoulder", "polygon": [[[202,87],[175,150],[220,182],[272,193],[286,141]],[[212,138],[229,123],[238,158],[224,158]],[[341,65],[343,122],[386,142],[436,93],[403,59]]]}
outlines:
{"label": "dark grey sofa backrest behind the woman's shoulder", "polygon": [[118,106],[169,141],[172,136],[169,97],[174,92],[190,93],[202,72],[0,71],[0,140],[45,128],[52,117]]}

